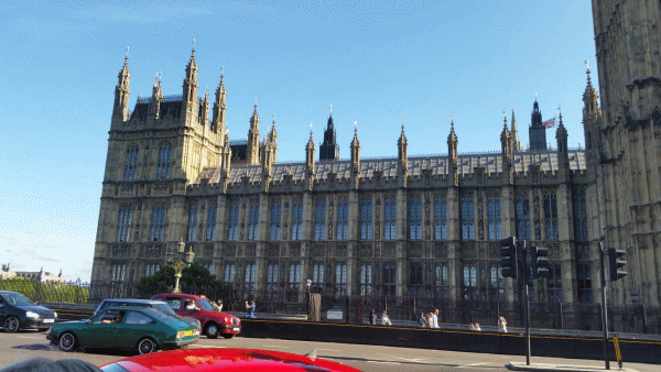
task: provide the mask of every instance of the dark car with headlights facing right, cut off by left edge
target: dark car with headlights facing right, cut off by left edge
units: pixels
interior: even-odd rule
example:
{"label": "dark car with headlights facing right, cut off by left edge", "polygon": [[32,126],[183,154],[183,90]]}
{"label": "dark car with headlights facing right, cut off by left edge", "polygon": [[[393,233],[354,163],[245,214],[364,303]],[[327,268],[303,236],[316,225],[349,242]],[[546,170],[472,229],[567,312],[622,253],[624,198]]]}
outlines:
{"label": "dark car with headlights facing right, cut off by left edge", "polygon": [[57,321],[57,313],[36,305],[22,293],[0,291],[0,325],[6,332],[39,329],[41,332]]}

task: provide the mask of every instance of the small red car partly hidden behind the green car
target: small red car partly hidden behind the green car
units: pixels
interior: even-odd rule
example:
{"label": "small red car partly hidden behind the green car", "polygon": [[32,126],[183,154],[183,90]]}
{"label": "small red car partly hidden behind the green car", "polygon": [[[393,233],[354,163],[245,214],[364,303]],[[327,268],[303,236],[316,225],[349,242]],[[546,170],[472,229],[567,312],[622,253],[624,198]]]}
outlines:
{"label": "small red car partly hidden behind the green car", "polygon": [[152,299],[164,300],[174,313],[199,320],[202,332],[208,338],[223,335],[229,339],[241,332],[241,320],[231,314],[216,311],[206,297],[164,293],[153,296]]}

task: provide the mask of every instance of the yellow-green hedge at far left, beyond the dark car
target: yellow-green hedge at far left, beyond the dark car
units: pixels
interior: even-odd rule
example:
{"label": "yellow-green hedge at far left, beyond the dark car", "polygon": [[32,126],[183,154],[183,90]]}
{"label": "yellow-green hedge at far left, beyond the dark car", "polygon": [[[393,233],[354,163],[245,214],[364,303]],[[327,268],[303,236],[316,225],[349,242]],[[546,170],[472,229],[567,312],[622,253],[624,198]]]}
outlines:
{"label": "yellow-green hedge at far left, beyond the dark car", "polygon": [[35,302],[86,304],[89,291],[75,284],[39,283],[25,277],[0,280],[0,289],[20,292]]}

